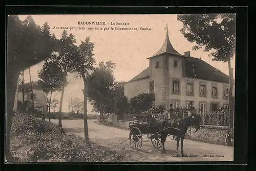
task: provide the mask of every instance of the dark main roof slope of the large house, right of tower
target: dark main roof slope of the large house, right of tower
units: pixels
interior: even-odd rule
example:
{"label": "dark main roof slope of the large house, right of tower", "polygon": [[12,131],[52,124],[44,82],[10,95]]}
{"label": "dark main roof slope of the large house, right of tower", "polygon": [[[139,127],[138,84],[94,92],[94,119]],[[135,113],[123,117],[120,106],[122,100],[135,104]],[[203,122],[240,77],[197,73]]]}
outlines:
{"label": "dark main roof slope of the large house, right of tower", "polygon": [[188,57],[185,60],[185,72],[188,78],[229,83],[229,77],[227,75],[198,58]]}

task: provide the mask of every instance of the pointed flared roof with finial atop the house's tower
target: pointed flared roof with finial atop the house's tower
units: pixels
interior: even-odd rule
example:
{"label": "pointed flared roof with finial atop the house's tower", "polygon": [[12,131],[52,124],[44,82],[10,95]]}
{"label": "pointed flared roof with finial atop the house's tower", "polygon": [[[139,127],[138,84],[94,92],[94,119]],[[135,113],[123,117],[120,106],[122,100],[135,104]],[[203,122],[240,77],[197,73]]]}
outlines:
{"label": "pointed flared roof with finial atop the house's tower", "polygon": [[164,54],[164,53],[168,53],[168,54],[172,54],[172,55],[178,55],[178,56],[183,56],[180,53],[178,53],[174,49],[172,43],[170,43],[167,24],[166,24],[166,27],[164,28],[164,30],[165,29],[166,29],[166,38],[164,40],[164,43],[163,43],[162,47],[160,48],[160,50],[155,55],[153,55],[152,57],[155,57],[157,55]]}

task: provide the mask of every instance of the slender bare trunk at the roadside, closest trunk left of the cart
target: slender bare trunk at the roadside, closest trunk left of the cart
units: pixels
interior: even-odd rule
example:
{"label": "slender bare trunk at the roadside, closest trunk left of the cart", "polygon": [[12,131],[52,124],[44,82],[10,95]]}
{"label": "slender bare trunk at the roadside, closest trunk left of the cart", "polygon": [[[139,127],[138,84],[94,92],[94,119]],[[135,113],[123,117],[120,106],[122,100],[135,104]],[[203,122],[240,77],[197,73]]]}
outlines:
{"label": "slender bare trunk at the roadside, closest trunk left of the cart", "polygon": [[86,144],[90,145],[89,133],[88,133],[88,122],[87,122],[87,83],[83,80],[83,128],[84,128],[84,138],[86,139]]}

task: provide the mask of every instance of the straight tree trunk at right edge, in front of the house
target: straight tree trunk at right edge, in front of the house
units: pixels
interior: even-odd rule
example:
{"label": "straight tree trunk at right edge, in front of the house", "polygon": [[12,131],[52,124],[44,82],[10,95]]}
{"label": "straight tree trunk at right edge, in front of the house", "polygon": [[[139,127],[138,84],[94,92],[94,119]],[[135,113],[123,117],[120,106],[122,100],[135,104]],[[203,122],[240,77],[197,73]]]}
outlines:
{"label": "straight tree trunk at right edge, in front of the house", "polygon": [[228,62],[228,71],[229,71],[229,129],[233,129],[234,123],[234,97],[233,97],[233,68],[231,68],[230,60]]}

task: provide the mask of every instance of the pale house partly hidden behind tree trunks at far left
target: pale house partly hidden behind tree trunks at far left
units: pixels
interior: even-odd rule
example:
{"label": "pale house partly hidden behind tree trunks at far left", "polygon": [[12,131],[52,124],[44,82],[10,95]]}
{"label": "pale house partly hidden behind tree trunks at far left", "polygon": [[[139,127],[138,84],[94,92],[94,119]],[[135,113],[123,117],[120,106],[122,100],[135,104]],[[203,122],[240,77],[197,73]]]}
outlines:
{"label": "pale house partly hidden behind tree trunks at far left", "polygon": [[[31,82],[27,83],[24,85],[25,87],[31,87]],[[29,102],[30,105],[32,105],[32,98],[34,100],[34,107],[38,111],[44,111],[47,113],[48,111],[48,98],[47,98],[47,93],[42,90],[42,88],[36,83],[32,81],[32,87],[33,87],[33,96],[31,93],[26,93],[25,94],[25,102]],[[19,102],[23,101],[23,96],[22,92],[19,92],[17,94],[17,99]]]}

